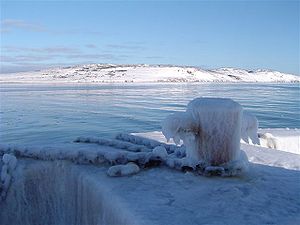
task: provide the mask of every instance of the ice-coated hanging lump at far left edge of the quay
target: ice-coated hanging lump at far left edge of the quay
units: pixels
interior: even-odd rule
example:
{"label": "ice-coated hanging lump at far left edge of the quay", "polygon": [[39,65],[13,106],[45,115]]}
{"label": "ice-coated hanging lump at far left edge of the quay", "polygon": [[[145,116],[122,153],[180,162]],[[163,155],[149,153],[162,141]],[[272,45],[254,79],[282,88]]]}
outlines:
{"label": "ice-coated hanging lump at far left edge of the quay", "polygon": [[2,161],[0,160],[1,167],[1,182],[0,182],[0,195],[1,199],[4,200],[9,186],[12,182],[13,172],[17,166],[17,159],[12,154],[4,154]]}

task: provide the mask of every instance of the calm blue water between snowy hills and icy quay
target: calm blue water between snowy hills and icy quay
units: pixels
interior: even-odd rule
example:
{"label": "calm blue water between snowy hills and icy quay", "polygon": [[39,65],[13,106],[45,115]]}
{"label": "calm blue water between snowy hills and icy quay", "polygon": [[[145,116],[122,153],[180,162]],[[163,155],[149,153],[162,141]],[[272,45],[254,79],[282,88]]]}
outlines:
{"label": "calm blue water between snowy hills and icy quay", "polygon": [[0,143],[51,145],[78,136],[160,130],[196,97],[226,97],[261,128],[300,128],[299,84],[2,85]]}

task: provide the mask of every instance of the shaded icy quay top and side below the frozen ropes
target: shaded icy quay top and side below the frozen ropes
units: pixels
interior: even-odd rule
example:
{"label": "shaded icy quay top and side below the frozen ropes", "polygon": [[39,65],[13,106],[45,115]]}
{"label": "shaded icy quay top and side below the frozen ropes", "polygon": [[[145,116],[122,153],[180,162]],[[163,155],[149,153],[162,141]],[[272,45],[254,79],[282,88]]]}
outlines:
{"label": "shaded icy quay top and side below the frozen ropes", "polygon": [[300,211],[299,171],[251,166],[242,179],[163,168],[116,179],[106,176],[105,167],[22,159],[17,182],[0,203],[0,222],[292,224]]}

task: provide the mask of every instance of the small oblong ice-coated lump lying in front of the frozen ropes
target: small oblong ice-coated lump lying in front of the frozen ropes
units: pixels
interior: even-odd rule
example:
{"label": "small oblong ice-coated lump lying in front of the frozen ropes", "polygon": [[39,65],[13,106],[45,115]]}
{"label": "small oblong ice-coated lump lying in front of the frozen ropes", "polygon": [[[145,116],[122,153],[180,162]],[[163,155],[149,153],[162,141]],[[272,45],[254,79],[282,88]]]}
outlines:
{"label": "small oblong ice-coated lump lying in front of the frozen ropes", "polygon": [[138,165],[130,162],[126,165],[116,165],[108,169],[107,175],[110,177],[121,177],[136,174],[140,171]]}

